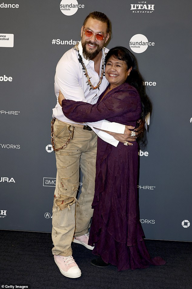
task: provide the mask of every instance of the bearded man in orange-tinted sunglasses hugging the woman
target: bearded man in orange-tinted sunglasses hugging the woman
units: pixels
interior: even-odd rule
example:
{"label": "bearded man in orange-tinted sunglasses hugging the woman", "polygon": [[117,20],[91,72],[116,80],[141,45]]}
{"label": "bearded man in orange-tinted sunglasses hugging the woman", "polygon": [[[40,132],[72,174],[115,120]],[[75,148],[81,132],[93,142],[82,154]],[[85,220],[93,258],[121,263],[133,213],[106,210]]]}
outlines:
{"label": "bearded man in orange-tinted sunglasses hugging the woman", "polygon": [[[68,50],[56,67],[57,97],[61,90],[67,99],[96,103],[108,84],[104,77],[104,58],[108,49],[104,48],[104,44],[109,36],[110,23],[107,16],[101,12],[90,13],[81,27],[81,42]],[[88,229],[93,214],[91,203],[97,150],[95,132],[114,146],[117,146],[118,141],[131,145],[127,140],[135,139],[130,138],[129,129],[133,127],[118,123],[106,120],[87,125],[74,123],[65,117],[58,102],[53,109],[53,117],[56,118],[53,147],[57,178],[52,216],[52,253],[61,273],[66,277],[77,278],[81,276],[81,270],[72,257],[71,242],[93,249],[88,245]],[[83,186],[77,201],[79,167],[83,174]]]}

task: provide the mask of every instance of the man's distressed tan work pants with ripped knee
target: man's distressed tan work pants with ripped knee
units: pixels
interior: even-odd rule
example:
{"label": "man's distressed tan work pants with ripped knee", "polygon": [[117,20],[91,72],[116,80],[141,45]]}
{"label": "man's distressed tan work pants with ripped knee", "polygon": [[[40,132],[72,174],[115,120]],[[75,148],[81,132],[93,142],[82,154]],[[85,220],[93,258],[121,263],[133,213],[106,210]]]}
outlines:
{"label": "man's distressed tan work pants with ripped knee", "polygon": [[[74,125],[75,126],[75,125]],[[68,139],[68,125],[58,119],[54,123],[55,147]],[[76,127],[68,145],[55,152],[57,177],[52,216],[54,255],[71,256],[73,236],[88,232],[93,215],[97,135],[91,130]],[[79,167],[83,174],[81,194],[77,201]]]}

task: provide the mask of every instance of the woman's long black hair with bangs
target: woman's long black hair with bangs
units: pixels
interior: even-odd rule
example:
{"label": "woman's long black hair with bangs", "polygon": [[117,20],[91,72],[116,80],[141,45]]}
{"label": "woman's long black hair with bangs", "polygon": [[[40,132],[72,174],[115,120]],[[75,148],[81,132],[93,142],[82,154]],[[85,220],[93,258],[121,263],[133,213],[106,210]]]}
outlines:
{"label": "woman's long black hair with bangs", "polygon": [[127,64],[127,70],[132,67],[131,72],[129,76],[127,77],[126,82],[128,82],[130,85],[134,86],[141,98],[141,106],[142,106],[142,113],[141,113],[141,119],[139,120],[140,125],[140,134],[139,138],[143,140],[144,142],[144,124],[145,124],[145,117],[151,112],[152,105],[149,97],[147,96],[145,92],[145,86],[144,86],[144,79],[141,76],[137,60],[133,53],[129,51],[127,48],[123,46],[116,46],[114,48],[111,48],[109,52],[107,53],[105,57],[105,65],[108,61],[108,59],[113,56],[114,58],[118,60],[123,60]]}

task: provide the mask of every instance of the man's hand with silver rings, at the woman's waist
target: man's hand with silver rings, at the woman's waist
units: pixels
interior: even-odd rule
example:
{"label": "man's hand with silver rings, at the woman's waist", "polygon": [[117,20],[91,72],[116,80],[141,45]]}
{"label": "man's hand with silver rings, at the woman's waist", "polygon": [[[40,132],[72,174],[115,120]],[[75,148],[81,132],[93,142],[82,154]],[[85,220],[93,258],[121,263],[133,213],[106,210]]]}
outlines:
{"label": "man's hand with silver rings, at the woman's waist", "polygon": [[108,134],[110,134],[111,136],[113,136],[115,139],[117,139],[119,142],[125,143],[125,145],[128,145],[128,146],[132,146],[133,144],[129,143],[129,142],[135,142],[135,140],[138,136],[137,131],[139,130],[139,128],[134,129],[135,136],[131,136],[131,131],[133,129],[134,129],[134,126],[125,126],[124,134],[116,133],[116,132],[108,132],[108,131],[106,131],[106,132]]}

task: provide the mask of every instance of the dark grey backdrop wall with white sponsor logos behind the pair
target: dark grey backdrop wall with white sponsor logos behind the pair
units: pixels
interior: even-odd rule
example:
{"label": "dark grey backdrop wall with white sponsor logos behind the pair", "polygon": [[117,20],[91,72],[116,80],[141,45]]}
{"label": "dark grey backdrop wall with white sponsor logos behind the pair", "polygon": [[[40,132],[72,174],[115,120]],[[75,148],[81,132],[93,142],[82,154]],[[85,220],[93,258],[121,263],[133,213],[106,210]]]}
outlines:
{"label": "dark grey backdrop wall with white sponsor logos behind the pair", "polygon": [[55,68],[92,11],[111,21],[106,46],[136,56],[153,103],[139,151],[145,237],[192,241],[189,0],[0,0],[0,229],[51,232]]}

